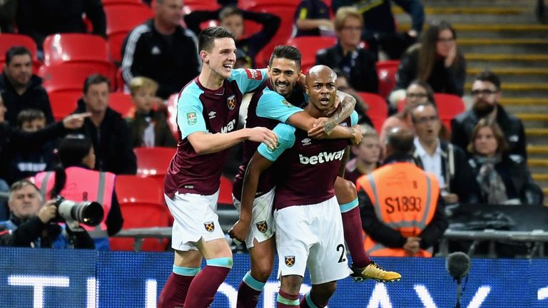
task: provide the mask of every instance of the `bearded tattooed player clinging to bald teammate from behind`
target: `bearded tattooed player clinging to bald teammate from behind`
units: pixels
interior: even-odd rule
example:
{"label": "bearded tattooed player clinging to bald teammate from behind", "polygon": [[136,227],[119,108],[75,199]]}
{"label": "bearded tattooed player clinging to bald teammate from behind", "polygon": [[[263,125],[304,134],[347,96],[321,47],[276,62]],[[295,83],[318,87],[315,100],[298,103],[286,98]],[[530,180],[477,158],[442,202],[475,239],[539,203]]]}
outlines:
{"label": "bearded tattooed player clinging to bald teammate from behind", "polygon": [[[251,98],[246,127],[273,128],[279,122],[285,122],[302,130],[308,130],[308,125],[315,118],[300,108],[304,108],[308,102],[308,96],[303,90],[295,87],[300,78],[300,58],[300,52],[292,46],[277,46],[275,48],[268,67],[269,79],[263,88],[255,91]],[[324,124],[324,127],[347,118],[353,110],[355,100],[346,93],[337,93],[342,101],[342,108],[325,120],[328,124]],[[360,130],[352,131],[341,125],[336,125],[329,138],[353,138],[354,143],[359,143],[361,133]],[[310,138],[305,138],[303,142],[310,142]],[[238,289],[238,308],[256,306],[260,292],[270,277],[274,260],[273,217],[271,214],[275,186],[273,175],[275,170],[273,168],[265,170],[261,175],[253,209],[251,207],[249,209],[240,208],[245,170],[257,147],[258,143],[244,142],[244,160],[233,186],[234,204],[241,214],[240,220],[229,234],[238,240],[245,240],[251,258],[251,270],[245,274]],[[375,272],[375,277],[384,277],[385,274],[387,276],[395,274],[400,277],[397,273],[385,272],[376,267],[363,250],[362,233],[357,232],[357,230],[361,230],[361,220],[354,185],[347,180],[338,178],[335,182],[335,191],[341,205],[341,212],[343,212],[345,239],[350,247],[355,266],[353,275],[356,276],[356,279],[374,278],[370,277],[372,272]],[[365,277],[362,272],[367,265],[372,265],[372,267],[367,270],[367,277]]]}

